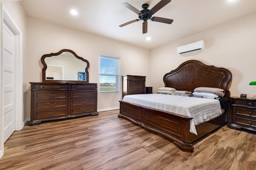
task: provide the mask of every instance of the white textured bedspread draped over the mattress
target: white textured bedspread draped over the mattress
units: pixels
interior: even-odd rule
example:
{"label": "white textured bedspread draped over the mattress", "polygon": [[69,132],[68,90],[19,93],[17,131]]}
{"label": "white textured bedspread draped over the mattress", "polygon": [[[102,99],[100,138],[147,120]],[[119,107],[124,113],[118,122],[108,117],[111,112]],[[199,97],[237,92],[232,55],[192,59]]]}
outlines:
{"label": "white textured bedspread draped over the mattress", "polygon": [[190,121],[190,132],[196,135],[195,125],[222,114],[220,102],[215,99],[167,94],[133,94],[124,96],[123,101],[193,117]]}

